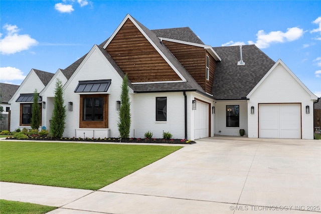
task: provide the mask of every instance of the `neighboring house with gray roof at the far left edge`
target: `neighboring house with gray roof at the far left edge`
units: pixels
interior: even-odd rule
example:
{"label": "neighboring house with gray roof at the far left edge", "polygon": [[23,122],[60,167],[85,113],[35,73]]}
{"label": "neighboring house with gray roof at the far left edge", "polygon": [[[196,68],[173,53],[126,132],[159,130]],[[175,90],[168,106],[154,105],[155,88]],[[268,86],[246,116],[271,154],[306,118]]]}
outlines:
{"label": "neighboring house with gray roof at the far left edge", "polygon": [[6,83],[0,83],[0,96],[1,103],[0,105],[3,107],[2,115],[4,120],[0,123],[0,130],[9,130],[10,129],[10,104],[8,103],[10,98],[15,94],[19,85],[12,85]]}

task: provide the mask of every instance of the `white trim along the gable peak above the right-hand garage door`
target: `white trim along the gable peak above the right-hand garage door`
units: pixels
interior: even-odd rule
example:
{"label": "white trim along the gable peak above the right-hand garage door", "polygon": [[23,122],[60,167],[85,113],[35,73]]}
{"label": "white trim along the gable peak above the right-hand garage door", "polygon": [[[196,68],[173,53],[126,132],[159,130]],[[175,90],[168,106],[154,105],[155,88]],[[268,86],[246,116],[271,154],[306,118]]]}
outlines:
{"label": "white trim along the gable peak above the right-hand garage door", "polygon": [[250,91],[246,98],[250,98],[251,95],[256,91],[256,89],[264,82],[264,80],[274,71],[276,66],[281,65],[285,70],[296,80],[296,82],[310,95],[311,100],[316,100],[317,97],[295,76],[295,74],[282,62],[281,59],[278,59],[277,62],[272,66],[272,68],[264,75],[264,77],[256,84],[256,86]]}

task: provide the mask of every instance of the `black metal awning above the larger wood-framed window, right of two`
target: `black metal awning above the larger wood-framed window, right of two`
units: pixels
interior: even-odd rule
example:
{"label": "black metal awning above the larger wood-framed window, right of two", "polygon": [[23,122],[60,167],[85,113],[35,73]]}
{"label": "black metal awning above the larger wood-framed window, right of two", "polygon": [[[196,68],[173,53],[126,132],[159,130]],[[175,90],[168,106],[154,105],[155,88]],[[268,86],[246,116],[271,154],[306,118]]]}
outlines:
{"label": "black metal awning above the larger wood-framed window, right of two", "polygon": [[107,92],[111,80],[88,80],[79,81],[75,93],[80,92]]}

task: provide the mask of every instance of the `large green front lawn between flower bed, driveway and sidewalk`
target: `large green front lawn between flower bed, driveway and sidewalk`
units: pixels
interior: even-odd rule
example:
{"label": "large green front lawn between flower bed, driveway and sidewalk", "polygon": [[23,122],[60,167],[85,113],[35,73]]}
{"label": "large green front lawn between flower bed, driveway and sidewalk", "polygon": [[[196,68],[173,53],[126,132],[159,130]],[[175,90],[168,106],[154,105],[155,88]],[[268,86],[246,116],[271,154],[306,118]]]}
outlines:
{"label": "large green front lawn between flower bed, driveway and sidewalk", "polygon": [[97,190],[181,146],[0,142],[1,181]]}

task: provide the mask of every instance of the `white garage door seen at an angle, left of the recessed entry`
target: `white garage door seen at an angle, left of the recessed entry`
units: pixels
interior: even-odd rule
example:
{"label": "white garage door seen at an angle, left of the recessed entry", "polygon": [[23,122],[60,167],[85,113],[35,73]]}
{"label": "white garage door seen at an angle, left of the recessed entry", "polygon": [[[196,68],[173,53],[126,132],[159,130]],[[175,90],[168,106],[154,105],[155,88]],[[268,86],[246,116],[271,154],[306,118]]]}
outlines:
{"label": "white garage door seen at an angle, left of the recessed entry", "polygon": [[209,136],[209,104],[197,101],[194,128],[195,139]]}

